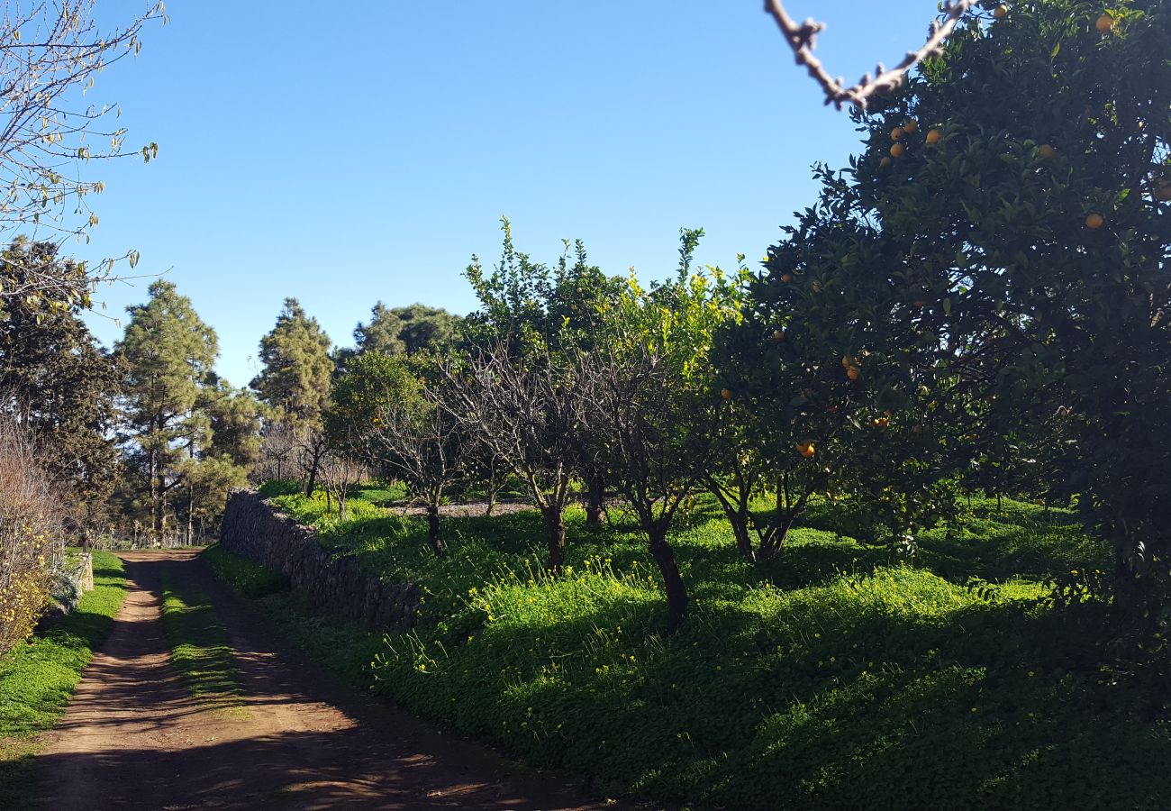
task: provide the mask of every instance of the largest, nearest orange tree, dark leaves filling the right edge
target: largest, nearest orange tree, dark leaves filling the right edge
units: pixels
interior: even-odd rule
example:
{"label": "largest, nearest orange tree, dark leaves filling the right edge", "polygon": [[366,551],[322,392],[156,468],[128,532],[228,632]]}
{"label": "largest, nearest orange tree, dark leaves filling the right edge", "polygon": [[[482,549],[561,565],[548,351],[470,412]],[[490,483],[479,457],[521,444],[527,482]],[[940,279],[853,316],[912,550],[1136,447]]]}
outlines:
{"label": "largest, nearest orange tree, dark leaves filling the right edge", "polygon": [[[1049,484],[1114,543],[1115,605],[1146,631],[1171,622],[1167,42],[1163,0],[970,13],[917,79],[856,114],[864,155],[822,172],[821,203],[753,291],[758,334],[738,339],[747,352],[766,319],[792,319],[793,380],[869,348],[856,382],[958,451],[941,475],[1064,420]],[[843,301],[836,327],[815,284]]]}

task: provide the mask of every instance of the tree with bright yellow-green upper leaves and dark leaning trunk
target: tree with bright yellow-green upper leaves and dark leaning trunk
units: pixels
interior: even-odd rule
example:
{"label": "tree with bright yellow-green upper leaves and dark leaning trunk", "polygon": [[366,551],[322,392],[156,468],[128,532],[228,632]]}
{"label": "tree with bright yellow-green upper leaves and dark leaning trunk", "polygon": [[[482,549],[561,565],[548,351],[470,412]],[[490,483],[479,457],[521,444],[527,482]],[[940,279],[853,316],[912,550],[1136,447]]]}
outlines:
{"label": "tree with bright yellow-green upper leaves and dark leaning trunk", "polygon": [[604,341],[575,369],[597,406],[590,455],[646,533],[666,584],[670,631],[687,614],[687,593],[667,533],[710,469],[721,400],[713,387],[711,341],[715,327],[734,315],[723,286],[691,273],[701,236],[703,230],[680,231],[673,281],[644,289],[631,277],[603,311]]}

